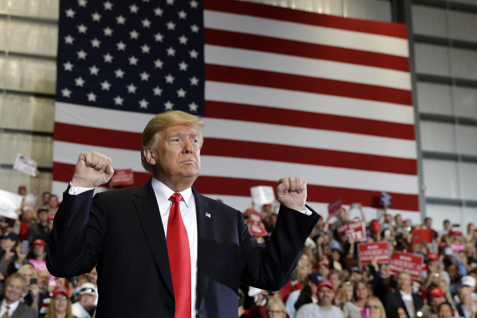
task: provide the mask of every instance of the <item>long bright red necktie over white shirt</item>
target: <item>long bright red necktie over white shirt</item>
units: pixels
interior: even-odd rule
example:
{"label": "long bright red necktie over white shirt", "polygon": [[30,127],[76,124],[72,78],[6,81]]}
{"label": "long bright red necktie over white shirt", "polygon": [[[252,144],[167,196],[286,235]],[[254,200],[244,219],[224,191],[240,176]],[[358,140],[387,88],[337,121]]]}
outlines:
{"label": "long bright red necktie over white shirt", "polygon": [[189,238],[180,215],[179,202],[182,196],[174,193],[169,198],[172,201],[169,220],[167,222],[167,253],[169,255],[170,274],[175,298],[175,318],[191,317],[191,286],[190,286],[190,250]]}

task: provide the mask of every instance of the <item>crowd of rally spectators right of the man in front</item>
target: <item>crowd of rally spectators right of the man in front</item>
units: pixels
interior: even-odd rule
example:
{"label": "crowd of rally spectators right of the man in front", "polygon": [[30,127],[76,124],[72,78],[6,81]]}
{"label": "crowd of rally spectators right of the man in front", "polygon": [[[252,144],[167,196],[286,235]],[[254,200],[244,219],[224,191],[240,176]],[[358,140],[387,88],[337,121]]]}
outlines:
{"label": "crowd of rally spectators right of the man in front", "polygon": [[[349,219],[357,208],[361,218]],[[273,232],[276,216],[271,205],[260,212],[262,227]],[[432,228],[432,219],[412,224],[387,208],[379,217],[367,221],[360,204],[341,208],[335,217],[320,219],[305,243],[291,280],[279,291],[263,291],[242,286],[239,292],[239,317],[242,318],[475,318],[477,314],[476,229],[467,226],[462,233],[449,220],[442,229]],[[337,229],[349,222],[363,221],[366,235],[360,241],[389,242],[389,253],[402,251],[422,255],[419,277],[403,269],[390,273],[389,263],[358,260],[359,241],[343,242]],[[431,238],[416,239],[416,231]],[[268,235],[256,237],[266,243]],[[406,254],[407,255],[407,254]],[[389,262],[389,261],[388,261]],[[405,267],[405,266],[404,266]]]}

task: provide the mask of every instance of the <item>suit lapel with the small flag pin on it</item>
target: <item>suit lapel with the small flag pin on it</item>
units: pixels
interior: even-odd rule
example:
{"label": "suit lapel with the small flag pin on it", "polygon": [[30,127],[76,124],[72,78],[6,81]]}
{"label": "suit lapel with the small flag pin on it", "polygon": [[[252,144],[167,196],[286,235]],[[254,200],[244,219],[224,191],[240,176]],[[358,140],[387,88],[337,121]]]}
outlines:
{"label": "suit lapel with the small flag pin on it", "polygon": [[214,260],[214,211],[192,188],[197,213],[197,304],[200,306],[209,284]]}

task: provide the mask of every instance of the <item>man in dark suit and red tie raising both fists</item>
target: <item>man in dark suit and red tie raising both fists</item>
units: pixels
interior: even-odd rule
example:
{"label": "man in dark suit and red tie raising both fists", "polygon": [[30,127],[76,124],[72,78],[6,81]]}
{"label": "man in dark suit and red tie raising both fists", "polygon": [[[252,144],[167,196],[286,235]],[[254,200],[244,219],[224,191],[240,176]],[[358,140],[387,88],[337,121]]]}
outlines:
{"label": "man in dark suit and red tie raising both fists", "polygon": [[111,159],[79,156],[55,216],[47,265],[55,276],[74,276],[97,263],[96,318],[237,317],[239,281],[278,290],[291,276],[319,219],[305,207],[306,182],[278,181],[276,228],[266,246],[257,244],[241,212],[192,187],[202,127],[197,116],[159,114],[142,136],[142,163],[153,178],[94,198],[91,188],[113,174]]}

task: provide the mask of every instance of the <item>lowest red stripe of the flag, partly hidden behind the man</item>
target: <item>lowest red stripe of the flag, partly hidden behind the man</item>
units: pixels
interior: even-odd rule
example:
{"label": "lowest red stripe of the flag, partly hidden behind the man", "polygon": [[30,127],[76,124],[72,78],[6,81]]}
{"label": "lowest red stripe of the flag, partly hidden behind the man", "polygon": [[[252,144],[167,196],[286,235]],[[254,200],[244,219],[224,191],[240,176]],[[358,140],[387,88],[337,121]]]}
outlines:
{"label": "lowest red stripe of the flag, partly hidden behind the man", "polygon": [[[60,182],[69,182],[75,170],[74,164],[53,162],[53,179]],[[134,185],[142,185],[151,174],[148,172],[134,172]],[[250,196],[250,187],[257,185],[270,185],[276,187],[274,181],[238,179],[228,177],[199,176],[194,187],[199,193],[217,195]],[[309,202],[330,202],[333,198],[341,198],[343,204],[361,202],[363,206],[377,206],[381,192],[358,189],[326,187],[308,184]],[[418,211],[418,195],[391,193],[393,196],[393,209]],[[227,203],[227,202],[226,202]]]}

